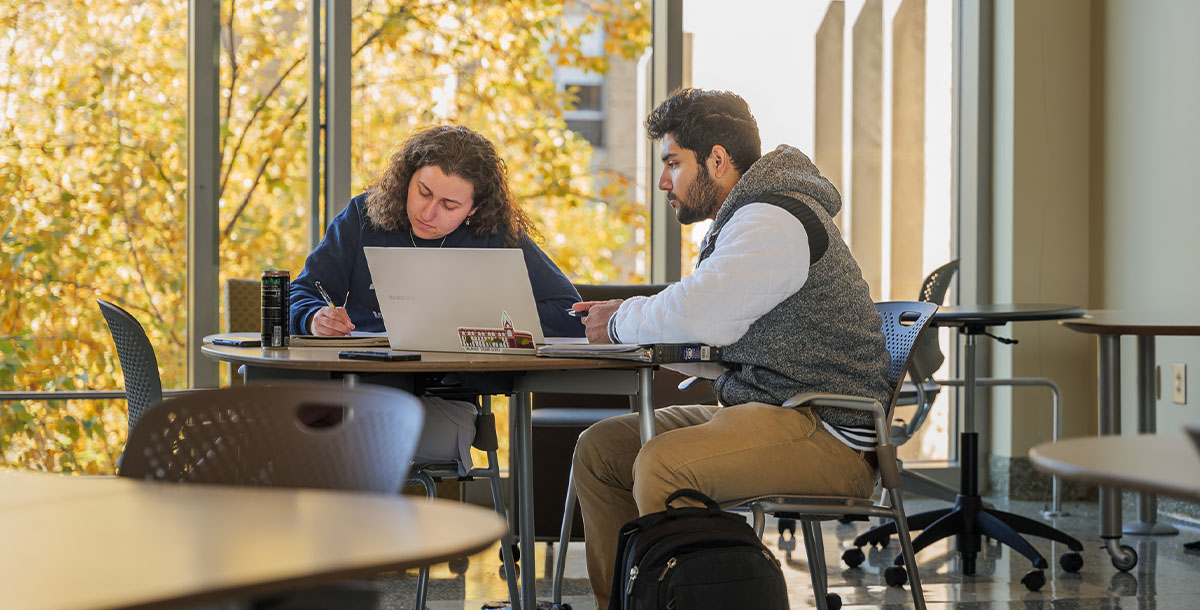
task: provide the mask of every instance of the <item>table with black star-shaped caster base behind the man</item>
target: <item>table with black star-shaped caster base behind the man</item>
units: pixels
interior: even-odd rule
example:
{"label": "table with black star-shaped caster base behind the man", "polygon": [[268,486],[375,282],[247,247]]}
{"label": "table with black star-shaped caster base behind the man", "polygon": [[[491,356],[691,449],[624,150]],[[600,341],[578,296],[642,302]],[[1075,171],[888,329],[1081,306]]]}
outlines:
{"label": "table with black star-shaped caster base behind the man", "polygon": [[[1072,305],[1044,304],[997,304],[997,305],[961,305],[942,307],[934,315],[932,324],[938,327],[959,327],[959,333],[966,337],[966,373],[964,376],[965,405],[962,432],[960,433],[961,485],[953,508],[941,508],[918,513],[908,518],[911,531],[920,530],[920,536],[912,540],[913,550],[920,551],[930,544],[954,536],[959,555],[962,558],[962,574],[973,575],[976,556],[980,550],[980,536],[986,536],[1014,550],[1033,562],[1033,570],[1021,579],[1028,590],[1037,591],[1045,585],[1042,570],[1049,567],[1045,557],[1033,548],[1021,534],[1037,536],[1066,544],[1072,552],[1063,554],[1060,564],[1067,572],[1078,572],[1084,560],[1079,551],[1084,545],[1079,540],[1032,519],[986,508],[979,497],[978,478],[978,432],[974,426],[976,375],[976,337],[988,334],[989,327],[1001,327],[1009,322],[1032,322],[1048,319],[1078,318],[1084,310]],[[884,545],[896,531],[894,522],[875,527],[854,539],[856,546],[868,544]],[[896,566],[902,561],[896,557]]]}

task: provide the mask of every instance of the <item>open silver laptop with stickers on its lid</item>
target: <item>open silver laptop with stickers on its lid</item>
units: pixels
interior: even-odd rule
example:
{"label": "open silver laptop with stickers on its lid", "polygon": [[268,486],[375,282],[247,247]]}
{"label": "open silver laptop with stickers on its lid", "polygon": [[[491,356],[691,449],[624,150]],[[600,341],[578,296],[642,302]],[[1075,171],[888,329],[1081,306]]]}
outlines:
{"label": "open silver laptop with stickers on its lid", "polygon": [[392,349],[534,355],[545,343],[520,249],[362,250]]}

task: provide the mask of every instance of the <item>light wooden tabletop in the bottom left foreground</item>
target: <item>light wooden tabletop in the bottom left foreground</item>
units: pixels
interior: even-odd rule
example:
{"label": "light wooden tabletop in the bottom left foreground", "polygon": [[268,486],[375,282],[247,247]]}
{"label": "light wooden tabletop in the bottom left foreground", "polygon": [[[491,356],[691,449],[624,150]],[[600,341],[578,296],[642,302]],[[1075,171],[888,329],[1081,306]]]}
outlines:
{"label": "light wooden tabletop in the bottom left foreground", "polygon": [[478,552],[494,512],[378,494],[0,471],[6,610],[259,594]]}

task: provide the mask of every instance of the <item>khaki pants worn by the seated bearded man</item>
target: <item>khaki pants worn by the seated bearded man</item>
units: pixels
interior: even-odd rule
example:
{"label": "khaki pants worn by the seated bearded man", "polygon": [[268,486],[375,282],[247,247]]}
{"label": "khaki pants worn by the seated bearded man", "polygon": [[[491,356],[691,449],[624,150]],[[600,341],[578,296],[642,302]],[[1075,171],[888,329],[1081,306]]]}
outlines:
{"label": "khaki pants worn by the seated bearded man", "polygon": [[876,479],[811,409],[761,402],[658,409],[646,447],[636,413],[606,419],[580,436],[574,467],[588,579],[601,610],[608,606],[620,526],[662,510],[678,489],[716,502],[766,494],[869,497]]}

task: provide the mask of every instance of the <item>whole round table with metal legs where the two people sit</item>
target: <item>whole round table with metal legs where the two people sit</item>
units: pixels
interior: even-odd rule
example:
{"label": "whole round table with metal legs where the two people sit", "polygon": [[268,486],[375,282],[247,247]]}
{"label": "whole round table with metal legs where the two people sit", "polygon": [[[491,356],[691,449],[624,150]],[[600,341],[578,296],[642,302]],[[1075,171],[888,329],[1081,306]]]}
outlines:
{"label": "whole round table with metal legs where the two people sit", "polygon": [[[230,334],[226,334],[227,336]],[[257,333],[232,335],[257,337]],[[215,335],[214,335],[215,336]],[[392,381],[432,373],[470,373],[473,382],[482,382],[482,391],[509,394],[512,425],[509,430],[515,465],[514,502],[517,509],[517,536],[521,557],[533,561],[533,426],[530,423],[534,391],[560,394],[623,394],[637,396],[640,429],[644,443],[654,436],[654,369],[655,365],[630,360],[596,358],[540,358],[496,353],[421,352],[420,360],[371,361],[347,360],[337,357],[348,347],[292,347],[263,349],[259,347],[229,347],[209,342],[200,352],[217,360],[245,366],[246,382],[271,379],[342,378],[347,384],[359,383],[370,373],[390,373]],[[412,390],[413,388],[408,388]],[[533,566],[521,570],[521,606],[536,609]],[[516,606],[516,603],[514,603]]]}

